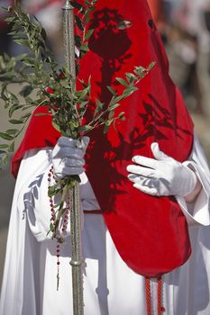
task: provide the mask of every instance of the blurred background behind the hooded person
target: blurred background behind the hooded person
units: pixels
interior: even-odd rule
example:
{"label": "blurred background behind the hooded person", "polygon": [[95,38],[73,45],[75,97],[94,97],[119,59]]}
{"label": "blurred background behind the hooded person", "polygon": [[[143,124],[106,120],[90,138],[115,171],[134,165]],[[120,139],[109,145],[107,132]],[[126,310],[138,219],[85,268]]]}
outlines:
{"label": "blurred background behind the hooded person", "polygon": [[[62,17],[64,0],[22,0],[26,13],[35,14],[48,34],[48,44],[62,62]],[[169,72],[181,90],[195,123],[195,130],[210,162],[210,0],[148,0],[169,57]],[[14,0],[0,0],[0,55],[23,53],[14,44],[4,22],[2,7]],[[0,85],[1,89],[1,85]],[[18,87],[14,85],[14,94]],[[0,105],[1,105],[0,101]],[[0,107],[0,130],[7,128],[7,114]],[[1,141],[1,140],[0,140]],[[5,244],[14,178],[7,166],[0,175],[0,285],[5,260]]]}

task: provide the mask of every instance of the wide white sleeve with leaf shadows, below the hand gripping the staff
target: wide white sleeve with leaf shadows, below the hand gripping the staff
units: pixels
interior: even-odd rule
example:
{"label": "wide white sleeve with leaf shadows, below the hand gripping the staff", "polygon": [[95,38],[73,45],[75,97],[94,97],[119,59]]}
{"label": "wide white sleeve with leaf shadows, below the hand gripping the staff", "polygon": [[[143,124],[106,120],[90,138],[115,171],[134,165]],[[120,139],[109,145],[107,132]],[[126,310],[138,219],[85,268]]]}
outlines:
{"label": "wide white sleeve with leaf shadows, below the hand gripping the staff", "polygon": [[[18,178],[23,178],[17,196],[18,209],[22,209],[32,234],[38,241],[47,238],[50,230],[50,200],[48,173],[50,149],[32,149],[25,153]],[[50,238],[50,235],[49,235]]]}

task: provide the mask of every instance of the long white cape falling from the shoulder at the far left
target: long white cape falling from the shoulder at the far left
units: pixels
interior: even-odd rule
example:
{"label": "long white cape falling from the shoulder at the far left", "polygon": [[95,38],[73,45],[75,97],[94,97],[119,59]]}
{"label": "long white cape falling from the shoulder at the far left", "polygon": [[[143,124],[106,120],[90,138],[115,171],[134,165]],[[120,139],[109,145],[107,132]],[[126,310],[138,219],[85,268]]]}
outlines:
{"label": "long white cape falling from the shoulder at the far left", "polygon": [[[37,150],[34,149],[28,151],[23,157],[18,172],[7,237],[5,269],[0,299],[1,315],[22,314],[23,299],[26,296],[27,298],[32,296],[30,300],[31,313],[36,313],[36,306],[33,303],[35,282],[32,268],[36,266],[36,259],[39,260],[37,258],[39,254],[35,250],[36,241],[35,238],[32,238],[32,233],[27,224],[26,211],[30,214],[32,228],[35,229],[35,225],[32,222],[32,211],[30,210],[30,204],[33,202],[32,195],[30,195],[31,188],[35,195],[35,200],[37,193],[34,188],[35,184],[32,184],[32,181],[41,173],[44,173],[50,165],[48,158],[42,158],[42,154],[42,151],[37,153]],[[32,187],[30,187],[30,184],[32,184]],[[36,254],[38,254],[37,257],[35,257]],[[27,281],[25,280],[25,275],[27,275]],[[28,283],[30,285],[27,285]]]}

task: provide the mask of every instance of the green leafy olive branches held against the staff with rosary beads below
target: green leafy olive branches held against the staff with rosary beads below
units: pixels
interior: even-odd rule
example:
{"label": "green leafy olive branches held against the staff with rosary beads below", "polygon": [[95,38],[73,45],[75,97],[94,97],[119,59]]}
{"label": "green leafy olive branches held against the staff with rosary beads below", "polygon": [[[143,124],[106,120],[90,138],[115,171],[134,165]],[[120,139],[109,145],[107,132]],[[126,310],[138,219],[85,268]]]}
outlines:
{"label": "green leafy olive branches held against the staff with rosary beads below", "polygon": [[[87,53],[88,40],[94,31],[87,29],[87,23],[91,12],[96,8],[96,0],[86,0],[84,5],[78,4],[77,1],[72,1],[71,4],[78,10],[75,20],[78,29],[82,31],[82,36],[76,35],[75,38],[79,51],[79,55],[76,56],[78,73],[79,60]],[[76,88],[75,79],[68,68],[59,67],[53,58],[46,44],[46,31],[36,17],[23,13],[21,6],[17,3],[14,8],[9,7],[5,10],[10,14],[6,21],[11,26],[11,36],[28,52],[18,57],[10,57],[6,54],[0,56],[0,83],[2,85],[0,99],[8,112],[8,121],[14,125],[13,128],[0,132],[0,168],[14,152],[15,139],[21,134],[37,107],[47,107],[48,113],[45,114],[51,115],[53,127],[63,136],[72,139],[80,139],[99,126],[107,132],[116,121],[126,119],[124,112],[116,115],[115,110],[123,99],[138,90],[138,83],[154,67],[154,62],[151,62],[148,67],[134,67],[133,71],[125,73],[123,78],[116,77],[115,80],[123,85],[123,92],[118,94],[112,86],[107,86],[112,94],[107,105],[98,99],[93,103],[90,97],[91,77],[87,82],[77,78],[82,89]],[[12,83],[20,86],[18,94],[13,93]],[[90,103],[92,117],[84,122]],[[92,110],[93,106],[94,110]],[[55,205],[58,207],[56,223],[50,224],[50,230],[54,234],[57,233],[60,216],[64,211],[66,192],[78,181],[78,175],[66,176],[59,179],[59,182],[49,189],[49,196],[55,196],[58,193],[62,195],[60,202]]]}

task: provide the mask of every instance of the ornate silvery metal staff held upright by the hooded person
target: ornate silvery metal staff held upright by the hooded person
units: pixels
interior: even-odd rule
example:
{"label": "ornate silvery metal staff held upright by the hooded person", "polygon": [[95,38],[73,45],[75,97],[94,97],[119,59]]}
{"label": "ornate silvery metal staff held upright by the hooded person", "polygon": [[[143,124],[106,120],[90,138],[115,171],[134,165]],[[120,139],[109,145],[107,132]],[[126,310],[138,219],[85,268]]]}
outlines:
{"label": "ornate silvery metal staff held upright by the hooded person", "polygon": [[[74,11],[67,0],[63,7],[63,36],[65,61],[75,84],[75,40],[74,40]],[[81,245],[81,211],[79,198],[79,184],[77,183],[70,192],[70,229],[71,229],[71,261],[72,266],[72,291],[73,314],[84,314],[83,301],[83,257]]]}

